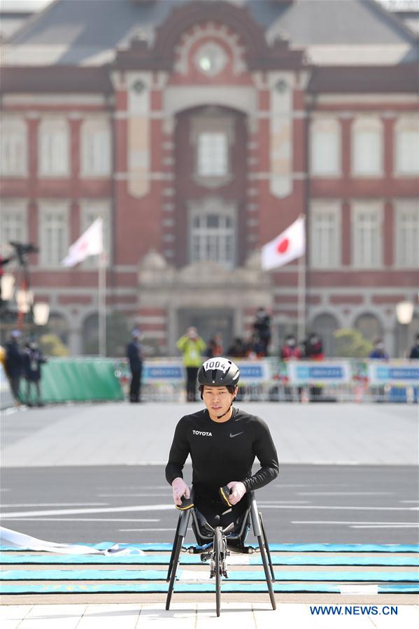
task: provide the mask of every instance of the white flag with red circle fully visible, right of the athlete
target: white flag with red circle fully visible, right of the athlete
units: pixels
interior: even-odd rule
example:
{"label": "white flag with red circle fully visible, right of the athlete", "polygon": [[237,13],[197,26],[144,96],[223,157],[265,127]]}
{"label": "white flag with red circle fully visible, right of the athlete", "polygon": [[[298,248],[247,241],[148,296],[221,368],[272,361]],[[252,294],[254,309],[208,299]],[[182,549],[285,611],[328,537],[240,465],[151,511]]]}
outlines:
{"label": "white flag with red circle fully visible, right of the athlete", "polygon": [[285,232],[276,236],[274,240],[262,247],[262,269],[269,271],[282,267],[297,257],[304,255],[306,251],[306,232],[304,216],[297,218],[295,222],[285,229]]}

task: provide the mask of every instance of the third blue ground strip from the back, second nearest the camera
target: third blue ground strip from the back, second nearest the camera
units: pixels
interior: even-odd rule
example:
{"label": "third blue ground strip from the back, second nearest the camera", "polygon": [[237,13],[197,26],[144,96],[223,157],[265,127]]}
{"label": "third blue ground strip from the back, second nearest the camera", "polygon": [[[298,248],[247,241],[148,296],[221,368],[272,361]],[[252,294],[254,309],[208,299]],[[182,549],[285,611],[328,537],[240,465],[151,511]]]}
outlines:
{"label": "third blue ground strip from the back, second nearest the camera", "polygon": [[[165,581],[166,570],[4,570],[2,581]],[[191,578],[194,579],[196,571]],[[187,570],[180,571],[187,579]],[[202,577],[208,577],[202,572]],[[398,582],[419,583],[418,572],[338,572],[338,571],[275,571],[277,581],[355,581],[355,582]],[[194,579],[195,580],[195,579]],[[251,570],[230,570],[229,581],[265,581],[264,572]]]}

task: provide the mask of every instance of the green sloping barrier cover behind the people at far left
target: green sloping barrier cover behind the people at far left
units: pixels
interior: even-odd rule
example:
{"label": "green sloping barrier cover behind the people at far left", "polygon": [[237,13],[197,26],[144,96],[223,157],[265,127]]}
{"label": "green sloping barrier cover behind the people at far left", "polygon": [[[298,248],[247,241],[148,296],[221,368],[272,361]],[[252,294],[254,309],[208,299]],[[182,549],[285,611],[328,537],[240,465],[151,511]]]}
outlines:
{"label": "green sloping barrier cover behind the people at far left", "polygon": [[[23,402],[34,402],[34,387],[27,400],[22,379]],[[115,361],[106,358],[50,358],[42,366],[41,397],[44,403],[119,401],[124,399],[115,375]]]}

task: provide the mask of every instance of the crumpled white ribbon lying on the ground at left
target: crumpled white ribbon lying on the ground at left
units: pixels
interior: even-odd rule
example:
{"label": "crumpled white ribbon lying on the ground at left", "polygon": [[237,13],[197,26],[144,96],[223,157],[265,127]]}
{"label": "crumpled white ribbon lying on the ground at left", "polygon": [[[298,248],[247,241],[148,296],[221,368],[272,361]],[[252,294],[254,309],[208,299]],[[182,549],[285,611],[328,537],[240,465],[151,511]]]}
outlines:
{"label": "crumpled white ribbon lying on the ground at left", "polygon": [[55,542],[45,542],[44,539],[37,539],[31,537],[31,535],[25,535],[13,531],[10,528],[0,526],[0,545],[10,546],[18,549],[25,549],[29,551],[43,551],[47,553],[58,553],[59,555],[112,555],[113,553],[120,553],[125,555],[131,555],[135,552],[137,555],[145,555],[141,549],[134,548],[120,548],[118,544],[114,544],[111,548],[106,550],[98,550],[92,548],[92,546],[83,546],[83,544],[55,544]]}

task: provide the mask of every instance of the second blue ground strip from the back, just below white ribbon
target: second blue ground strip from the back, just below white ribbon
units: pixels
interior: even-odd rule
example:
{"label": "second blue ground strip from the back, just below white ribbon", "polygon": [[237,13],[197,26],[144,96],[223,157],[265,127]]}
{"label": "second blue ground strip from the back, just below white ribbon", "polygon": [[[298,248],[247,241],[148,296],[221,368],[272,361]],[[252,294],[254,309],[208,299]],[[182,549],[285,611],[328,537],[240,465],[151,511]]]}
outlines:
{"label": "second blue ground strip from the back, just below white ribbon", "polygon": [[[257,556],[244,556],[247,562],[243,565],[262,565],[262,558]],[[311,555],[295,555],[278,557],[272,555],[273,565],[364,565],[364,566],[399,566],[399,567],[415,567],[419,566],[419,557],[371,557],[371,556],[311,556]],[[170,555],[55,555],[55,554],[24,554],[17,553],[14,555],[0,555],[0,563],[4,565],[169,565]],[[180,563],[183,565],[201,565],[199,555],[190,555],[183,553],[180,556]],[[232,558],[231,565],[234,565]]]}

